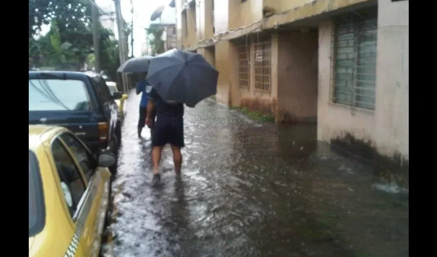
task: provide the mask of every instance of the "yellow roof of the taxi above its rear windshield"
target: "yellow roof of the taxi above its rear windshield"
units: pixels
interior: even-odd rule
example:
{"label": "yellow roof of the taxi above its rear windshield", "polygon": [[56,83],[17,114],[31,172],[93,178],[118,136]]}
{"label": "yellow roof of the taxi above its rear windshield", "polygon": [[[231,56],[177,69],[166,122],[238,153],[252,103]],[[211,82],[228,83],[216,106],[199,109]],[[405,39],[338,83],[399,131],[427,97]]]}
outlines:
{"label": "yellow roof of the taxi above its rear windshield", "polygon": [[66,128],[49,125],[29,125],[29,150],[36,151],[45,141],[50,141]]}

